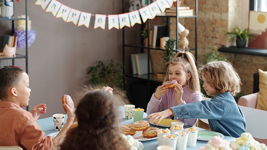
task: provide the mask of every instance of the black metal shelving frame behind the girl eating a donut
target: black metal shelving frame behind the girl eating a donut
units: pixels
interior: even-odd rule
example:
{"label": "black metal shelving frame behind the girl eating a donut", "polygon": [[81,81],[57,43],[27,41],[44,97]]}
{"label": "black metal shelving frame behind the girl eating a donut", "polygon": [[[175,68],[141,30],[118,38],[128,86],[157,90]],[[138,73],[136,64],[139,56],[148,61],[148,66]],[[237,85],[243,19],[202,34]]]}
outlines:
{"label": "black metal shelving frame behind the girl eating a donut", "polygon": [[[124,9],[124,1],[125,0],[122,0],[122,5],[123,5],[123,13],[125,13],[125,9]],[[179,0],[177,0],[177,4],[179,3]],[[148,4],[150,4],[148,2]],[[179,22],[179,18],[195,18],[195,47],[194,48],[190,48],[190,51],[195,51],[195,59],[196,59],[196,62],[197,62],[197,16],[198,16],[198,0],[195,0],[195,15],[193,16],[180,16],[178,15],[178,7],[176,8],[176,13],[177,15],[176,16],[166,16],[166,15],[158,15],[156,17],[165,17],[166,18],[166,22],[167,22],[167,26],[168,25],[168,22],[169,22],[169,18],[176,18],[176,47],[178,47],[178,22]],[[177,17],[178,16],[178,17]],[[147,20],[147,30],[150,31],[150,21],[152,20]],[[144,23],[142,24],[142,27],[144,27]],[[125,47],[131,47],[131,48],[137,48],[137,49],[147,49],[147,57],[148,57],[148,66],[147,66],[147,72],[149,72],[150,70],[150,50],[153,49],[153,50],[164,50],[164,49],[160,49],[159,46],[157,47],[152,47],[152,46],[149,46],[149,42],[147,44],[147,46],[144,46],[142,43],[127,43],[125,44],[125,29],[123,28],[123,66],[125,66]],[[169,30],[169,29],[168,29]],[[150,36],[149,36],[150,32],[148,32],[148,41],[150,41]],[[137,75],[137,74],[125,74],[125,69],[123,68],[123,74],[125,75],[125,77],[127,78],[135,78],[135,79],[140,79],[142,81],[147,81],[147,101],[146,103],[148,103],[150,101],[150,84],[154,84],[154,83],[159,83],[161,84],[163,82],[163,79],[159,79],[157,78],[157,75],[155,74],[152,74],[152,73],[148,73],[148,74],[145,74],[145,75]],[[124,79],[125,80],[125,79]],[[137,93],[138,94],[138,93]]]}

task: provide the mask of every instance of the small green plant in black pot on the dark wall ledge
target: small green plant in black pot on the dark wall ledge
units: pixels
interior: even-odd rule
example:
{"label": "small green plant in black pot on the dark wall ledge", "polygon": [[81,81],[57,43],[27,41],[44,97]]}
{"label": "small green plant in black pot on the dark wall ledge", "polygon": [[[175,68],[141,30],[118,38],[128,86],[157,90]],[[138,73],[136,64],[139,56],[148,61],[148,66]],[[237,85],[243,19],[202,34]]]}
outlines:
{"label": "small green plant in black pot on the dark wall ledge", "polygon": [[227,39],[236,38],[236,46],[238,48],[244,48],[250,36],[248,29],[241,30],[238,27],[233,28],[232,32],[227,32],[227,34]]}

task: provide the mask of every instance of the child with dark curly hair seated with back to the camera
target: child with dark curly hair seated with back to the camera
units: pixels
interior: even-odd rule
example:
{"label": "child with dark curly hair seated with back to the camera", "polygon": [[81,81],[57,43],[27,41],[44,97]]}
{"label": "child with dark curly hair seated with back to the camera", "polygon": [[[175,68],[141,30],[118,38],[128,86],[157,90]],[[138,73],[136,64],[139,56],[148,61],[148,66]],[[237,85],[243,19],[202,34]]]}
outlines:
{"label": "child with dark curly hair seated with back to the camera", "polygon": [[88,92],[80,100],[75,111],[78,127],[70,131],[60,149],[128,149],[117,125],[121,98],[104,90]]}

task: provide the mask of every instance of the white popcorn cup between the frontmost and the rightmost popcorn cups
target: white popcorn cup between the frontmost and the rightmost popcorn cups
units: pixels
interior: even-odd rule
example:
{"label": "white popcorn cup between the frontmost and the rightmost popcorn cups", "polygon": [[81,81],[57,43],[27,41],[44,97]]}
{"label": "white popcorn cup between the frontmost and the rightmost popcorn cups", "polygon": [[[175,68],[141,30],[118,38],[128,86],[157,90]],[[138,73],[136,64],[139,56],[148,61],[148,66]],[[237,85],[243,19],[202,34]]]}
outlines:
{"label": "white popcorn cup between the frontmost and the rightmost popcorn cups", "polygon": [[177,136],[177,144],[176,144],[177,150],[185,150],[186,149],[188,134],[189,133],[185,132],[185,131],[175,132],[175,135]]}

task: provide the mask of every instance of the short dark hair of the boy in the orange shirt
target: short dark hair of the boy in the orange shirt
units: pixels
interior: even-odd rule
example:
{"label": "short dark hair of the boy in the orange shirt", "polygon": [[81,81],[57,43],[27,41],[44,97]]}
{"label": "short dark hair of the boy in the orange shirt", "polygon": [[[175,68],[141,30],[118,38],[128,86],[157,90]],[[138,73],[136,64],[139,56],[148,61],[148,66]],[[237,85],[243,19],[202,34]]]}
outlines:
{"label": "short dark hair of the boy in the orange shirt", "polygon": [[0,69],[0,99],[7,97],[8,88],[17,86],[24,71],[17,67]]}

